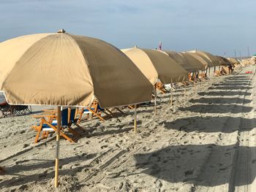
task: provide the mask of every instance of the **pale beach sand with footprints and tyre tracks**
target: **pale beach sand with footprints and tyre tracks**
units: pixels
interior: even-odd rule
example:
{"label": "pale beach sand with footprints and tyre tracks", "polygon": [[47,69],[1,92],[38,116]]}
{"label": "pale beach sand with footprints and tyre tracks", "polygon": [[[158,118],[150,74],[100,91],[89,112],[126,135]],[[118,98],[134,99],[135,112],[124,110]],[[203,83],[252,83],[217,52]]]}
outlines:
{"label": "pale beach sand with footprints and tyre tracks", "polygon": [[[211,70],[213,71],[213,70]],[[256,191],[255,66],[211,77],[197,90],[159,93],[154,106],[105,122],[84,121],[77,143],[61,139],[53,187],[55,134],[34,143],[37,120],[0,119],[0,191]],[[121,123],[118,121],[121,120]]]}

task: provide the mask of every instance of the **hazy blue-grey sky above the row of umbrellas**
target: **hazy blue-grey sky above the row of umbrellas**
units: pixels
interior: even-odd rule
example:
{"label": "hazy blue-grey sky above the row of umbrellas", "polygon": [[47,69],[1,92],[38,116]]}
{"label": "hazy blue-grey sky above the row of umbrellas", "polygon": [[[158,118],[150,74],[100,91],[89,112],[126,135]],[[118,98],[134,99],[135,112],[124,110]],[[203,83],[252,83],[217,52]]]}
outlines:
{"label": "hazy blue-grey sky above the row of umbrellas", "polygon": [[255,0],[0,0],[0,42],[52,33],[96,37],[118,48],[256,54]]}

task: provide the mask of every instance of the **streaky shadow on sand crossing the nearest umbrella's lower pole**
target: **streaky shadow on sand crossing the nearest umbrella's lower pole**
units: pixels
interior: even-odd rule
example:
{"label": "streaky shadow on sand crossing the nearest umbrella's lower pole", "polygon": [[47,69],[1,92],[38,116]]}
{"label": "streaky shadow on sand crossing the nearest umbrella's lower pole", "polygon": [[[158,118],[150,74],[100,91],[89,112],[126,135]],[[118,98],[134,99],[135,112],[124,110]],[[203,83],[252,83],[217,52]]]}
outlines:
{"label": "streaky shadow on sand crossing the nearest umbrella's lower pole", "polygon": [[[86,154],[75,155],[70,158],[60,159],[59,174],[72,175],[77,172],[81,172],[83,169],[88,169],[89,165],[83,165],[82,162],[89,161],[94,158],[97,154]],[[70,164],[69,167],[67,165]],[[54,164],[55,161],[43,160],[43,159],[30,159],[26,161],[16,161],[14,166],[4,167],[6,175],[10,174],[12,180],[0,181],[0,189],[4,187],[22,185],[22,189],[26,191],[26,184],[31,182],[47,182],[54,178]],[[63,169],[63,166],[66,166]],[[40,173],[23,175],[22,172],[28,172],[29,170],[39,170]],[[44,170],[44,172],[42,172]],[[20,173],[20,174],[19,174]]]}

